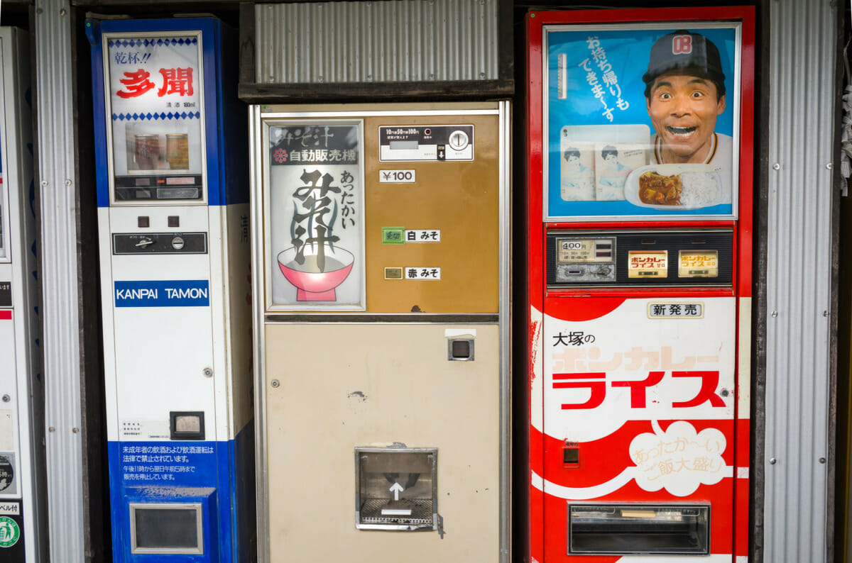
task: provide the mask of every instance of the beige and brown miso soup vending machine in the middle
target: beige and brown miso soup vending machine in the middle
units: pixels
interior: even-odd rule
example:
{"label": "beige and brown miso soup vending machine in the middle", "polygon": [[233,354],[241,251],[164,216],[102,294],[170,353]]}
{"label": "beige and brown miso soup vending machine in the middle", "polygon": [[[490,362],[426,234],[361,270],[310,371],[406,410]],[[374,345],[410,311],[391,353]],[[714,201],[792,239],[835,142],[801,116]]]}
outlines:
{"label": "beige and brown miso soup vending machine in the middle", "polygon": [[508,103],[251,128],[259,559],[508,561]]}

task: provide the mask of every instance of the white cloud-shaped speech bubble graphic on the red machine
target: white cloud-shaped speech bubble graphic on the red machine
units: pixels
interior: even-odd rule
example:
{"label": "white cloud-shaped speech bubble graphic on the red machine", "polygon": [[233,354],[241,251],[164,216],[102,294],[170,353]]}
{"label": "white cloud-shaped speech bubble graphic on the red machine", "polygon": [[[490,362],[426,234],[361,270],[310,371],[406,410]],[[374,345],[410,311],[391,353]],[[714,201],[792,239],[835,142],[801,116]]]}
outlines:
{"label": "white cloud-shaped speech bubble graphic on the red machine", "polygon": [[645,491],[665,490],[686,497],[699,485],[715,485],[725,476],[727,441],[715,428],[695,431],[684,420],[672,423],[663,432],[653,421],[653,434],[637,435],[630,442],[630,459],[636,463],[636,484]]}

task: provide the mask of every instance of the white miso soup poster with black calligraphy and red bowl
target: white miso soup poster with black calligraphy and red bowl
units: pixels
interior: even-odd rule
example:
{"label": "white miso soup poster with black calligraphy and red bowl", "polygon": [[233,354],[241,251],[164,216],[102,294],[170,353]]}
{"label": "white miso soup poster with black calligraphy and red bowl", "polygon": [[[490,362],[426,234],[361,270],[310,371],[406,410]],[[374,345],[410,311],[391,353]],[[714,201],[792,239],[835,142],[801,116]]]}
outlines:
{"label": "white miso soup poster with black calligraphy and red bowl", "polygon": [[365,310],[359,122],[269,128],[272,305]]}

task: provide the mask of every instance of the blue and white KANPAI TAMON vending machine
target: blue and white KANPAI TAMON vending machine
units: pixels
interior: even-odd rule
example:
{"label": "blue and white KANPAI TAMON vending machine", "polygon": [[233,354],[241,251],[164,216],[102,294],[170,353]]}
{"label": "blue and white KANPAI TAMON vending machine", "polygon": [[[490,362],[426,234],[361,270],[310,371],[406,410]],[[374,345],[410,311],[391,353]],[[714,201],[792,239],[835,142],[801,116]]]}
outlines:
{"label": "blue and white KANPAI TAMON vending machine", "polygon": [[254,558],[246,108],[213,18],[87,20],[116,562]]}

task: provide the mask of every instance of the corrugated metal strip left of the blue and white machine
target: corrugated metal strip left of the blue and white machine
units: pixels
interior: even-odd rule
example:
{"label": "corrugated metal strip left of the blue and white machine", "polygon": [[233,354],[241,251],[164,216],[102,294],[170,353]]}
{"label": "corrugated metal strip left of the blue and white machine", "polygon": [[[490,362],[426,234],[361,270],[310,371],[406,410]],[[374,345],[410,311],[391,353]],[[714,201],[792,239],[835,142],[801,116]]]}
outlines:
{"label": "corrugated metal strip left of the blue and white machine", "polygon": [[[36,2],[38,170],[50,557],[83,561],[77,186],[67,0]],[[96,252],[96,248],[90,250]]]}

